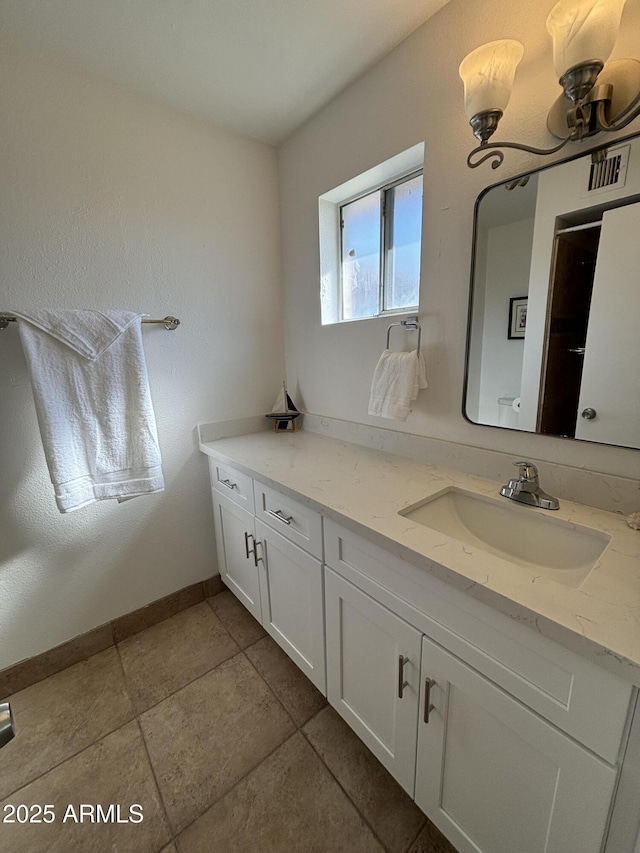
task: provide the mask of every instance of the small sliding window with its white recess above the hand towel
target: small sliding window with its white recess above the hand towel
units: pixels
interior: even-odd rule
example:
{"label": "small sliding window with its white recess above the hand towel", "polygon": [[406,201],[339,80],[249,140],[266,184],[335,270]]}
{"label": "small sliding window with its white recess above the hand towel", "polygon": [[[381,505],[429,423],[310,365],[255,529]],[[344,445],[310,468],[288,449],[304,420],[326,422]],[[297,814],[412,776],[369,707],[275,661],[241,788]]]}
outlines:
{"label": "small sliding window with its white recess above the hand towel", "polygon": [[417,311],[424,143],[318,199],[322,323]]}

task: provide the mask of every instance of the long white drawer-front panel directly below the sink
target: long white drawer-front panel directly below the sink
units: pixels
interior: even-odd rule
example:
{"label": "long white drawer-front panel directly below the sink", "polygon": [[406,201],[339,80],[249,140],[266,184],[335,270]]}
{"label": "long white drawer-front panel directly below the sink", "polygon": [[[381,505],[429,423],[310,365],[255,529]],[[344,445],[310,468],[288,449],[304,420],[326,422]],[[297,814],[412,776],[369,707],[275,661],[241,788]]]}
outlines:
{"label": "long white drawer-front panel directly below the sink", "polygon": [[615,764],[633,688],[428,572],[325,520],[326,563]]}

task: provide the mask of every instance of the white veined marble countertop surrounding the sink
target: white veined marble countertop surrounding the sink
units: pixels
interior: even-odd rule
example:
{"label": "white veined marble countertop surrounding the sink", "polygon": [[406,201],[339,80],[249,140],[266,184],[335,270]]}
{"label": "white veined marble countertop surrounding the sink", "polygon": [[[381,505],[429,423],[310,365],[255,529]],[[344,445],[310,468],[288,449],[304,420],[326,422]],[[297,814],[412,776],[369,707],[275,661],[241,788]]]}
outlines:
{"label": "white veined marble countertop surrounding the sink", "polygon": [[640,531],[623,516],[566,500],[556,512],[518,507],[611,536],[572,588],[399,515],[448,486],[498,496],[497,481],[304,430],[223,438],[200,449],[640,686]]}

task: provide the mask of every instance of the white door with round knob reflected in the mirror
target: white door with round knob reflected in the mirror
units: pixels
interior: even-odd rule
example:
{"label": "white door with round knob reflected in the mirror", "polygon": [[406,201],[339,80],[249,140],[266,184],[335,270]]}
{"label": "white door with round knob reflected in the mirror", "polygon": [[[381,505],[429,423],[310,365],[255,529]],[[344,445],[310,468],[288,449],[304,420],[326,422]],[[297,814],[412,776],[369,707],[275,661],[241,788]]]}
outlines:
{"label": "white door with round knob reflected in the mirror", "polygon": [[640,447],[639,229],[640,203],[603,215],[576,423],[585,441]]}

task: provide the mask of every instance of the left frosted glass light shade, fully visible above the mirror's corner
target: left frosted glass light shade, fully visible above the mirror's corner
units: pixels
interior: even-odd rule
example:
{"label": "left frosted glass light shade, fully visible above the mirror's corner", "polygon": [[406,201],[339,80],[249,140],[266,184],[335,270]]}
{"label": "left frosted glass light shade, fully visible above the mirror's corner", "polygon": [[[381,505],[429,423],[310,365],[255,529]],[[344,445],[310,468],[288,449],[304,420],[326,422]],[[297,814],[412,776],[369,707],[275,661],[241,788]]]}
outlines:
{"label": "left frosted glass light shade, fully visible above the mirror's corner", "polygon": [[514,39],[490,41],[472,50],[458,69],[464,83],[464,109],[471,119],[486,110],[504,110],[524,48]]}

